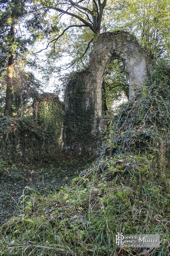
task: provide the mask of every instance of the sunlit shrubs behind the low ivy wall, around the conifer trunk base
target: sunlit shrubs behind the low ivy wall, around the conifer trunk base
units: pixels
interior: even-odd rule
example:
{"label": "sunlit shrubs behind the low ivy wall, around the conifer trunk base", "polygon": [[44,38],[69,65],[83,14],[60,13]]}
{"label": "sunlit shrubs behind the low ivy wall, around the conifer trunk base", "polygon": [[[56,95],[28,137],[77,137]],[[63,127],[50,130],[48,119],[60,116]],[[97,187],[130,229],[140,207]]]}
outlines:
{"label": "sunlit shrubs behind the low ivy wall, around the conifer trunk base", "polygon": [[[18,63],[21,65],[21,63]],[[23,65],[23,63],[22,63]],[[7,79],[5,76],[0,78],[0,114],[4,112],[5,94],[7,88]],[[42,92],[42,83],[35,78],[31,72],[25,72],[21,66],[15,68],[13,75],[11,115],[14,117],[32,116],[32,101]]]}

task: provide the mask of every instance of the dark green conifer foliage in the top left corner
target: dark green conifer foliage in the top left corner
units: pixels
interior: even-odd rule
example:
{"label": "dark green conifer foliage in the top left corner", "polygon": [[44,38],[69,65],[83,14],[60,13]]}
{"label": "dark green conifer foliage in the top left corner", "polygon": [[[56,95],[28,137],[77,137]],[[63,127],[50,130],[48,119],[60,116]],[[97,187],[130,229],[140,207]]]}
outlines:
{"label": "dark green conifer foliage in the top left corner", "polygon": [[[30,38],[26,38],[19,25],[26,14],[25,2],[0,1],[0,74],[7,71],[10,54],[16,54],[15,60],[23,58],[23,53],[26,54],[28,51],[28,45],[32,44]],[[11,27],[17,28],[15,34],[11,33]]]}

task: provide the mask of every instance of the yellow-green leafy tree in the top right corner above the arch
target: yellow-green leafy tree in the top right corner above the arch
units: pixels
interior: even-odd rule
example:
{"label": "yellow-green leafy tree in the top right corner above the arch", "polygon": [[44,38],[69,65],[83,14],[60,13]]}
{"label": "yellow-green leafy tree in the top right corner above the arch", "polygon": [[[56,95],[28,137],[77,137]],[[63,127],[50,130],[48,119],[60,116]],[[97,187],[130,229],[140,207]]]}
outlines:
{"label": "yellow-green leafy tree in the top right corner above the arch", "polygon": [[134,33],[150,59],[156,60],[170,51],[170,1],[120,0],[127,5],[117,12],[121,29]]}

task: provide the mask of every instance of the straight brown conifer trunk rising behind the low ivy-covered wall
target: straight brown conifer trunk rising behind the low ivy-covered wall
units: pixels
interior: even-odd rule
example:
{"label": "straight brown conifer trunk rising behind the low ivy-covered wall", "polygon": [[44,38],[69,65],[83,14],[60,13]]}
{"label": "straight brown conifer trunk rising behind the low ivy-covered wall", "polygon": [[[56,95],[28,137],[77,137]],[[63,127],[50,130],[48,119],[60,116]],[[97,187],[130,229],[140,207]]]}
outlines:
{"label": "straight brown conifer trunk rising behind the low ivy-covered wall", "polygon": [[[9,34],[9,45],[12,45],[12,43],[14,42],[14,33],[15,33],[15,27],[14,25],[11,25],[10,34]],[[13,70],[14,70],[14,53],[10,51],[10,46],[9,46],[5,115],[9,115],[10,109],[11,109]]]}

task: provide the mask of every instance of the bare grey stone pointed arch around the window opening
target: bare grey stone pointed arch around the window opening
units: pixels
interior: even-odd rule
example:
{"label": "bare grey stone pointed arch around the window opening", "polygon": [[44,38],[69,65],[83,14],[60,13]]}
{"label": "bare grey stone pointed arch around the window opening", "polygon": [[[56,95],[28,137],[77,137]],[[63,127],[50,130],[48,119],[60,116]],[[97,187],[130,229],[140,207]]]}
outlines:
{"label": "bare grey stone pointed arch around the window opening", "polygon": [[[126,66],[129,78],[129,97],[134,96],[136,87],[143,86],[151,72],[152,62],[141,48],[135,36],[124,32],[106,32],[98,36],[90,54],[87,89],[93,90],[96,115],[102,115],[102,82],[109,63],[117,59]],[[122,69],[121,72],[124,72]]]}

